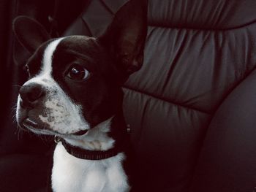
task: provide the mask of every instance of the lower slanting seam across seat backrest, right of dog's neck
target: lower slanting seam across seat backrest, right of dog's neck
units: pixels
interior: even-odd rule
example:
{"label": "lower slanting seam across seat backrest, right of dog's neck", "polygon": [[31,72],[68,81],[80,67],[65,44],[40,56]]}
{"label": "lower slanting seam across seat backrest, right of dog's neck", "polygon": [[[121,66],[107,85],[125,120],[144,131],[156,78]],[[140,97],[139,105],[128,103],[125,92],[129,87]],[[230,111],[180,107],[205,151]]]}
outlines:
{"label": "lower slanting seam across seat backrest, right of dog's neck", "polygon": [[206,111],[203,111],[203,110],[199,110],[199,109],[194,108],[194,107],[188,107],[188,106],[186,106],[186,105],[184,105],[184,104],[178,104],[178,103],[176,103],[176,102],[169,101],[169,100],[167,100],[167,99],[165,99],[165,98],[162,98],[162,97],[159,97],[159,96],[154,96],[154,95],[151,94],[151,93],[146,93],[145,91],[139,91],[139,90],[136,90],[135,88],[129,88],[128,86],[123,86],[123,88],[124,88],[124,89],[127,89],[127,90],[129,90],[129,91],[134,91],[134,92],[137,92],[137,93],[146,95],[146,96],[150,96],[150,97],[152,97],[152,98],[154,98],[154,99],[157,99],[157,100],[165,101],[165,102],[167,102],[167,103],[169,103],[169,104],[174,104],[174,105],[176,105],[176,106],[178,106],[178,107],[186,108],[187,110],[194,110],[194,111],[197,111],[197,112],[204,113],[204,114],[206,114],[206,115],[212,115],[212,114],[209,113],[209,112],[206,112]]}

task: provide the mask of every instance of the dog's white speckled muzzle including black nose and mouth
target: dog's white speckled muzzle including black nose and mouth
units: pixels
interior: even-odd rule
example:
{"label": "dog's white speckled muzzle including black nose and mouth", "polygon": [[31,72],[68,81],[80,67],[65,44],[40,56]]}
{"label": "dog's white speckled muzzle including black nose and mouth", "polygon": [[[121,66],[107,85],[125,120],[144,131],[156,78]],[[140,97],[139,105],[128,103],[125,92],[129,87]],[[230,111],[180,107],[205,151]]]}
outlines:
{"label": "dog's white speckled muzzle including black nose and mouth", "polygon": [[36,134],[86,134],[88,123],[80,116],[79,107],[72,103],[61,88],[26,82],[19,91],[17,121],[21,128]]}

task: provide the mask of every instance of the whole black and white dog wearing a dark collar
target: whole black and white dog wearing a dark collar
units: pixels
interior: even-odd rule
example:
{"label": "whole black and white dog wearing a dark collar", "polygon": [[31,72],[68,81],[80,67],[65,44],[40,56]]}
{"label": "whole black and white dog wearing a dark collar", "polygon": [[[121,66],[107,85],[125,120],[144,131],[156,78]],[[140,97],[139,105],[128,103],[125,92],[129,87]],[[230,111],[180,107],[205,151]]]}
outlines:
{"label": "whole black and white dog wearing a dark collar", "polygon": [[130,190],[121,85],[143,64],[146,13],[146,1],[129,1],[99,38],[50,39],[37,21],[15,19],[15,34],[31,53],[18,125],[56,136],[53,191]]}

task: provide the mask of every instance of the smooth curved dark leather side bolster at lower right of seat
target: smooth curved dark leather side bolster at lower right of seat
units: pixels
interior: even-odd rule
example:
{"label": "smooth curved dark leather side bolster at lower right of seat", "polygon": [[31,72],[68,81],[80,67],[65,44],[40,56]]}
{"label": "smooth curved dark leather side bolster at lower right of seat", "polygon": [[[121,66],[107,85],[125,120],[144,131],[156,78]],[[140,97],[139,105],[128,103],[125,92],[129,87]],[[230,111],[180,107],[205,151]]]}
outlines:
{"label": "smooth curved dark leather side bolster at lower right of seat", "polygon": [[256,71],[217,110],[191,191],[251,192],[256,186]]}

